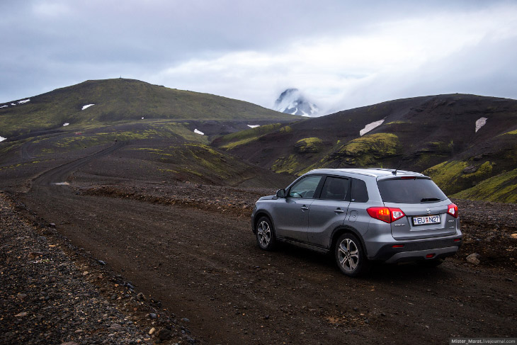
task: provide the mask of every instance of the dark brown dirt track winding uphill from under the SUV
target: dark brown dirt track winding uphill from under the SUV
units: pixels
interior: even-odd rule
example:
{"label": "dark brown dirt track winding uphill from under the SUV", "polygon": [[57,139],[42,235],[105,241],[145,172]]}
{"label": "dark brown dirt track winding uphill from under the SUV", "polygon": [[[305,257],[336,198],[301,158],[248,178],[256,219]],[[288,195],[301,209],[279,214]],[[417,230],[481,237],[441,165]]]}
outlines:
{"label": "dark brown dirt track winding uphill from under the SUV", "polygon": [[[208,344],[445,344],[516,336],[516,274],[448,260],[435,270],[379,266],[343,276],[328,256],[265,253],[249,218],[212,209],[76,194],[55,185],[123,143],[64,164],[20,196]],[[411,334],[411,336],[408,336]]]}

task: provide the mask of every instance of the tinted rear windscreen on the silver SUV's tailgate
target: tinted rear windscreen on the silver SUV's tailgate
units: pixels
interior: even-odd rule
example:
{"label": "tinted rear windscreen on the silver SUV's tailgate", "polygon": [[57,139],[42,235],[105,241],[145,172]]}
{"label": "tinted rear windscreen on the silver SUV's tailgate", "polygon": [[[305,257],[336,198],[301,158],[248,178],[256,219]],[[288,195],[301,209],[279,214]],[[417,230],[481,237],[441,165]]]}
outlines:
{"label": "tinted rear windscreen on the silver SUV's tailgate", "polygon": [[377,186],[385,203],[436,203],[447,198],[429,179],[382,180]]}

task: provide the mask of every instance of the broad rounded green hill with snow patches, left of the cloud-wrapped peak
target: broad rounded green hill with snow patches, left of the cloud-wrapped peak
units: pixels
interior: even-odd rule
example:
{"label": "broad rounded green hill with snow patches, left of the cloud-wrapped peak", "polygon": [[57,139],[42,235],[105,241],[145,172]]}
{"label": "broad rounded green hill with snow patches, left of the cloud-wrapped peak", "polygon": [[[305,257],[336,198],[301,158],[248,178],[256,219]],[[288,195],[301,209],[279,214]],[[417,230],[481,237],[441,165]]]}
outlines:
{"label": "broad rounded green hill with snow patches, left of the cloud-wrapped peak", "polygon": [[[121,121],[296,119],[231,98],[169,89],[132,79],[90,80],[0,104],[0,135],[107,125]],[[16,104],[13,106],[12,104]],[[88,106],[88,107],[85,107]]]}

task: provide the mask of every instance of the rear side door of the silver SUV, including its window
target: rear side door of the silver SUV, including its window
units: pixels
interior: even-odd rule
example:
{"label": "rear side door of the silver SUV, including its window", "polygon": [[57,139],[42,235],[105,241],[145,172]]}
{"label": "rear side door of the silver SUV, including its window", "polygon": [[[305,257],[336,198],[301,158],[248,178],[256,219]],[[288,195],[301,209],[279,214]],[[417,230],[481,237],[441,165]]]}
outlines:
{"label": "rear side door of the silver SUV, including its window", "polygon": [[350,204],[350,179],[326,176],[319,198],[314,199],[309,212],[308,238],[312,245],[326,247],[332,231],[343,225]]}

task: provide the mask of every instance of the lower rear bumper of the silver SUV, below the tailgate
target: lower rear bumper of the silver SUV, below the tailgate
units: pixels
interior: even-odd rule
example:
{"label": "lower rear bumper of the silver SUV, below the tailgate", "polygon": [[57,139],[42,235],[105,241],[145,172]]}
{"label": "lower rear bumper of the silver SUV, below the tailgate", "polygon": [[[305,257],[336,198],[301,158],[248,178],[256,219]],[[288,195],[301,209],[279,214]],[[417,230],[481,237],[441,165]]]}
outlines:
{"label": "lower rear bumper of the silver SUV, below the tailgate", "polygon": [[[432,239],[416,242],[394,242],[382,246],[375,256],[368,257],[371,260],[385,261],[394,264],[402,261],[420,261],[443,259],[453,256],[462,244],[462,237],[448,237],[445,239]],[[404,247],[393,247],[393,246]]]}

